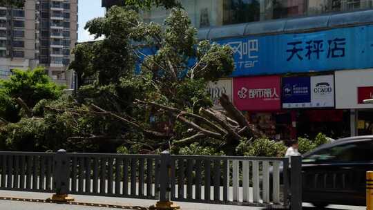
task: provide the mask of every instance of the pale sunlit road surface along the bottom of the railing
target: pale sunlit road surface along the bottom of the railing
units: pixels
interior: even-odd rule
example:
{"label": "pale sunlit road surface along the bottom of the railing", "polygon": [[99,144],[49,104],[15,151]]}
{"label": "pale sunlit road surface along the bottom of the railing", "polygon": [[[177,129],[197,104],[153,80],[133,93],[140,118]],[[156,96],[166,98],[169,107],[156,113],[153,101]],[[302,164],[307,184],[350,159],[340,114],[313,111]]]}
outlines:
{"label": "pale sunlit road surface along the bottom of the railing", "polygon": [[[104,204],[102,207],[96,206],[84,206],[75,204],[52,204],[44,202],[24,202],[24,201],[10,201],[10,200],[0,200],[0,209],[6,210],[106,210],[115,209],[135,209],[142,210],[140,207],[149,207],[155,204],[154,200],[140,200],[140,199],[128,199],[128,198],[107,198],[107,197],[97,197],[97,196],[86,196],[86,195],[72,195],[77,202],[94,202]],[[32,198],[44,200],[50,197],[48,193],[31,193],[31,192],[20,192],[20,191],[0,191],[1,197],[12,197],[12,198]],[[111,207],[104,207],[105,204],[111,204]],[[197,203],[187,203],[178,202],[183,210],[260,210],[261,208],[256,207],[240,207],[240,206],[229,206],[229,205],[216,205],[216,204],[197,204]],[[312,207],[310,204],[304,204],[305,210],[320,210]],[[334,209],[345,209],[345,210],[365,210],[365,207],[348,207],[348,206],[330,206],[327,210]]]}

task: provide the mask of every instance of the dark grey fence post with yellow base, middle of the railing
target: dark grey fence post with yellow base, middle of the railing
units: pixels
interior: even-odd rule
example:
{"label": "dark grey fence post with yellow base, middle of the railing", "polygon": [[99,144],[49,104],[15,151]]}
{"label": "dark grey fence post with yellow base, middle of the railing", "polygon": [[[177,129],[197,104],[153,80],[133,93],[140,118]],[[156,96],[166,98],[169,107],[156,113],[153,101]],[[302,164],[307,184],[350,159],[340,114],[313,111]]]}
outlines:
{"label": "dark grey fence post with yellow base, middle of the railing", "polygon": [[171,155],[169,151],[161,153],[160,164],[160,201],[150,207],[150,209],[180,209],[170,200],[170,174],[171,174]]}

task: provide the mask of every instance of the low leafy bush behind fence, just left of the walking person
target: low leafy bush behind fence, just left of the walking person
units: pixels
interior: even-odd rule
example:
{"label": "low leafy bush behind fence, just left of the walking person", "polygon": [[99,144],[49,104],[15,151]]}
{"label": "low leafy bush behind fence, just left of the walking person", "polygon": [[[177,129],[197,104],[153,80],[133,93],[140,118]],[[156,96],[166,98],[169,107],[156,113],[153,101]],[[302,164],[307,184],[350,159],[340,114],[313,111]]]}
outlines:
{"label": "low leafy bush behind fence, just left of the walking person", "polygon": [[275,142],[265,138],[257,139],[253,143],[242,140],[236,151],[238,155],[258,157],[283,157],[286,152],[283,142]]}

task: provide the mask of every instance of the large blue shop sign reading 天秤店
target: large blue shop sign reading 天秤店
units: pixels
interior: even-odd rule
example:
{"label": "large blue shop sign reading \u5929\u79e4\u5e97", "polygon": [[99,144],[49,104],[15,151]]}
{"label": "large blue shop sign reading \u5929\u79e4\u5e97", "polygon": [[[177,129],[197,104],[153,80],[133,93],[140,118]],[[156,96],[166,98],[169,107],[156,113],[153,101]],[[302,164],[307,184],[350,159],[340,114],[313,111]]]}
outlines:
{"label": "large blue shop sign reading \u5929\u79e4\u5e97", "polygon": [[373,67],[373,26],[216,42],[233,49],[233,77]]}

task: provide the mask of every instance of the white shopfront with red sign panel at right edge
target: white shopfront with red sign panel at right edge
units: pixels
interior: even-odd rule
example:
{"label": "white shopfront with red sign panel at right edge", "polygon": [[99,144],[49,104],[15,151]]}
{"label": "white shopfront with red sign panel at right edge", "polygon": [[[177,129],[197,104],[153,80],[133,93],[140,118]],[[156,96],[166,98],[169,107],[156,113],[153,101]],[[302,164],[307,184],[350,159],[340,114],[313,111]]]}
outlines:
{"label": "white shopfront with red sign panel at right edge", "polygon": [[336,71],[336,108],[350,109],[351,135],[373,135],[373,69]]}

